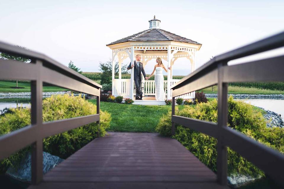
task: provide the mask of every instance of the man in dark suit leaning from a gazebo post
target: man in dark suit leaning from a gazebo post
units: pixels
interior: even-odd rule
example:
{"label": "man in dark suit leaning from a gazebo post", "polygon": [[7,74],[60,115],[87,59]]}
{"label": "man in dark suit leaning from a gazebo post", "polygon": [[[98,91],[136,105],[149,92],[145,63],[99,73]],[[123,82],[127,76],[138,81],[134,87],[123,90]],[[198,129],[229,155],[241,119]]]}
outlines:
{"label": "man in dark suit leaning from a gazebo post", "polygon": [[143,92],[141,91],[141,81],[142,81],[141,71],[142,71],[144,78],[149,79],[148,77],[146,77],[143,65],[140,62],[140,60],[141,60],[141,56],[136,55],[136,60],[134,61],[134,64],[131,65],[131,62],[130,62],[129,66],[127,67],[128,70],[134,67],[134,82],[135,82],[135,87],[136,87],[135,100],[142,100]]}

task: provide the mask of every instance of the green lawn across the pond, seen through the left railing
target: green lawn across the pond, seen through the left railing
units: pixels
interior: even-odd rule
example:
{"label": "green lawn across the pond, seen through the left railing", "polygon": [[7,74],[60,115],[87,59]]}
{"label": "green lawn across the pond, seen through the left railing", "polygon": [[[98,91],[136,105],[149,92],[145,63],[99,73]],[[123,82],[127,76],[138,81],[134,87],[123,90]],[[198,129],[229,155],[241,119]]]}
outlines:
{"label": "green lawn across the pond, seen through the left railing", "polygon": [[[22,89],[12,89],[16,87],[16,82],[0,81],[0,92],[30,92],[30,83],[19,83],[18,87],[24,87]],[[43,86],[43,92],[57,92],[57,91],[69,91],[56,86]]]}

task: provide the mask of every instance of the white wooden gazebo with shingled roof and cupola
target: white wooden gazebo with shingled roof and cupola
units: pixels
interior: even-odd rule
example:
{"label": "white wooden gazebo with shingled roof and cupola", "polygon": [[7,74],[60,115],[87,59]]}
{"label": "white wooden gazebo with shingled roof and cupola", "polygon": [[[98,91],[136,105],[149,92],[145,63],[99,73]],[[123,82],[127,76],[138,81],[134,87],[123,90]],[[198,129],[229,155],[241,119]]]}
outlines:
{"label": "white wooden gazebo with shingled roof and cupola", "polygon": [[[167,61],[165,66],[171,67],[168,71],[167,80],[164,81],[164,89],[167,99],[172,99],[170,86],[180,79],[172,79],[174,63],[178,58],[186,57],[191,63],[191,71],[195,70],[195,53],[200,49],[201,44],[196,41],[181,37],[171,32],[160,29],[160,20],[149,20],[149,29],[126,38],[107,44],[112,49],[112,94],[121,95],[124,98],[135,99],[134,69],[130,69],[130,79],[121,79],[121,63],[126,58],[130,58],[131,64],[137,54],[141,55],[141,62],[145,68],[147,63],[160,57]],[[119,79],[114,78],[115,61],[119,64]],[[188,64],[188,62],[185,62]],[[134,104],[164,104],[164,101],[156,101],[154,80],[142,80],[143,100],[134,100]],[[195,92],[184,94],[181,97],[190,99],[195,97]]]}

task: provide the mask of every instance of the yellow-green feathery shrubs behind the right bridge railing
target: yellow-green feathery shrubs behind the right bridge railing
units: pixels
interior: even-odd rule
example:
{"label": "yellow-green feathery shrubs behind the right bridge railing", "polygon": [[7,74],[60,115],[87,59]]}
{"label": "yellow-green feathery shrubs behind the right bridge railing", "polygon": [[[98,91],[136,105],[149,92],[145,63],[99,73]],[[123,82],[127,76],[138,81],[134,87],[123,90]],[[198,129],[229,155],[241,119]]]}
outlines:
{"label": "yellow-green feathery shrubs behind the right bridge railing", "polygon": [[[171,112],[168,115],[164,115],[156,128],[156,131],[163,136],[170,136],[171,133],[170,114]],[[180,111],[176,109],[175,114],[217,123],[217,100],[214,99],[207,103],[197,104],[196,106],[186,106]],[[284,152],[284,129],[267,128],[266,121],[260,110],[242,101],[235,101],[233,97],[228,99],[228,124],[231,128],[244,133],[256,141],[266,144],[282,153]],[[211,170],[217,171],[216,139],[178,124],[176,126],[176,134],[173,138],[183,144]],[[248,162],[230,148],[228,148],[228,173],[240,173],[251,176],[264,175],[251,162]]]}

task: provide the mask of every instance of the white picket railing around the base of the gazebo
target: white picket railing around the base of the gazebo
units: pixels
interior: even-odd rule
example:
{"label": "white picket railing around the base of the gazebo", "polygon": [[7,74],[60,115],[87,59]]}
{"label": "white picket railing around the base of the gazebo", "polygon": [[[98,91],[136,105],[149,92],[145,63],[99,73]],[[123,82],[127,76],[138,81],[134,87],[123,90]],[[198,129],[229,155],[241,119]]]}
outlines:
{"label": "white picket railing around the base of the gazebo", "polygon": [[[180,81],[180,79],[171,79],[171,85],[175,84],[176,82]],[[145,80],[142,81],[144,85],[142,84],[142,87],[144,89],[142,90],[143,96],[155,96],[155,81],[154,80]],[[168,89],[170,89],[170,86],[167,85],[167,80],[164,80],[164,89],[166,96],[168,95]],[[133,84],[134,85],[134,84]],[[124,98],[130,98],[130,79],[114,79],[114,90],[112,91],[112,95],[114,96],[123,96]],[[135,95],[135,89],[132,92],[132,96]],[[194,98],[194,92],[187,93],[180,95],[179,97],[190,99]]]}

